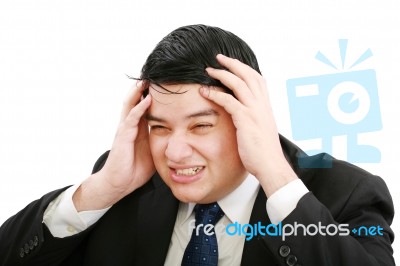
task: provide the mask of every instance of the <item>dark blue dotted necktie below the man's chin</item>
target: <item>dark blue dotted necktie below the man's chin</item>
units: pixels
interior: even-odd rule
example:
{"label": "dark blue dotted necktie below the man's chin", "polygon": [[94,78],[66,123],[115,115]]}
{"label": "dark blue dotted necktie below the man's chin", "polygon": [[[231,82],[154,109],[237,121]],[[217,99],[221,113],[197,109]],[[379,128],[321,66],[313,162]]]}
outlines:
{"label": "dark blue dotted necktie below the man's chin", "polygon": [[[182,266],[206,266],[218,265],[218,244],[214,226],[224,216],[221,207],[214,202],[209,204],[197,204],[194,207],[196,228],[203,224],[196,234],[196,228],[192,231],[192,237],[183,254]],[[204,226],[212,224],[212,230],[204,232]],[[211,232],[213,233],[212,235]]]}

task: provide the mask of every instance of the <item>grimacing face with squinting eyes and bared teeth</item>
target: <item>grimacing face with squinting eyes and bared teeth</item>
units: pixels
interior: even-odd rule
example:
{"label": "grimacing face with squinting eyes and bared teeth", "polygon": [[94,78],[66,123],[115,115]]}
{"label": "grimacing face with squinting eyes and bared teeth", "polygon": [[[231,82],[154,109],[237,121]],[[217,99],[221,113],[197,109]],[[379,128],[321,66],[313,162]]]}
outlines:
{"label": "grimacing face with squinting eyes and bared teeth", "polygon": [[199,84],[151,85],[146,115],[157,172],[183,202],[214,202],[247,175],[237,149],[231,116],[200,95]]}

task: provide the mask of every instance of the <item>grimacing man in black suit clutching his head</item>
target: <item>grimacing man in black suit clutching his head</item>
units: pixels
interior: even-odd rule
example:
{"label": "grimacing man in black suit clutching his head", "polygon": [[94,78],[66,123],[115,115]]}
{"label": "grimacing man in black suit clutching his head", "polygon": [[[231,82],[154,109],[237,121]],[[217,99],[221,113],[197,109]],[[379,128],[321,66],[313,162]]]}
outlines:
{"label": "grimacing man in black suit clutching his head", "polygon": [[[383,180],[279,136],[240,38],[179,28],[140,80],[93,174],[4,223],[1,265],[394,265]],[[246,240],[245,224],[261,230]],[[274,236],[282,225],[298,235]]]}

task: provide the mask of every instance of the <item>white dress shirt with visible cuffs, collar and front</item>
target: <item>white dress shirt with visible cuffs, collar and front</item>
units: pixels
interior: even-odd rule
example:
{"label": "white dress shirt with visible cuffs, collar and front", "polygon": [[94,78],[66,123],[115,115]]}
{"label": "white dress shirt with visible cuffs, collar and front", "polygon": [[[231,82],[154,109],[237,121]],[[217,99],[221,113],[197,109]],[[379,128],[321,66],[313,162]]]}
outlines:
{"label": "white dress shirt with visible cuffs, collar and front", "polygon": [[[71,236],[85,230],[109,209],[78,213],[72,202],[72,195],[77,188],[78,185],[72,186],[60,194],[49,204],[44,213],[43,222],[55,237]],[[239,187],[218,201],[225,214],[215,226],[219,252],[218,265],[240,265],[246,236],[228,236],[225,233],[225,226],[234,222],[249,223],[259,188],[258,180],[248,175]],[[286,218],[307,192],[303,182],[296,179],[271,195],[266,202],[271,222],[277,224]],[[190,225],[194,225],[194,206],[194,203],[179,204],[165,265],[181,264],[183,253],[191,237],[190,229],[193,227]]]}

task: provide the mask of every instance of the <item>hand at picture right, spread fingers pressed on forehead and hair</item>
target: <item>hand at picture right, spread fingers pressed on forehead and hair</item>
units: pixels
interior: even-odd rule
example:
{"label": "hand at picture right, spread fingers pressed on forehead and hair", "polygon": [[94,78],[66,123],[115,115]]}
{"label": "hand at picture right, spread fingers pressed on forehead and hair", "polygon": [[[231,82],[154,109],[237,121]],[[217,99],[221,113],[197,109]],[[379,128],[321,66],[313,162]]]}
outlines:
{"label": "hand at picture right, spread fingers pressed on forehead and hair", "polygon": [[206,87],[200,92],[232,116],[242,163],[270,196],[297,176],[283,154],[265,80],[237,59],[218,55],[217,60],[229,71],[207,68],[207,73],[231,89],[236,99]]}

